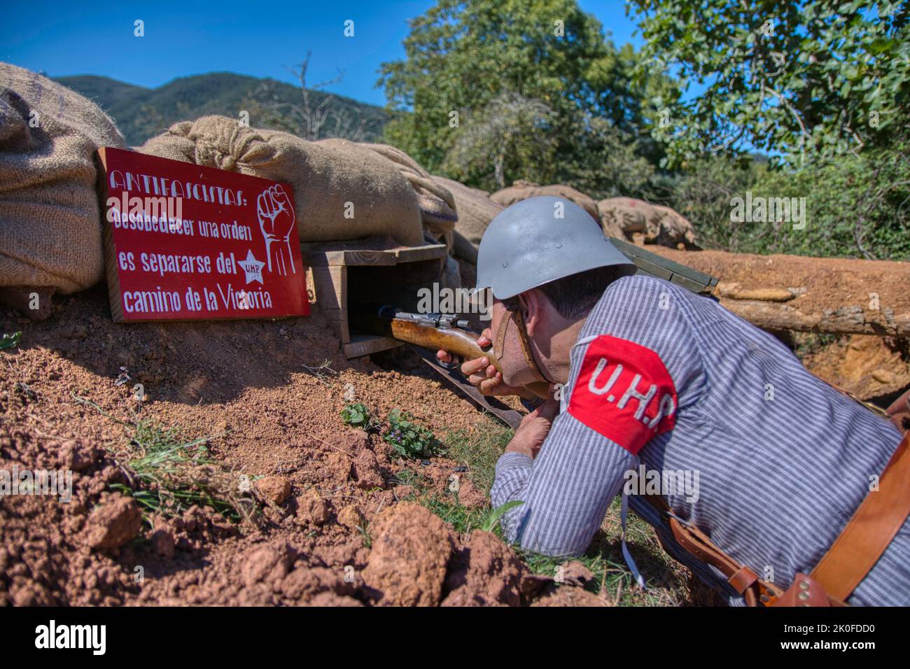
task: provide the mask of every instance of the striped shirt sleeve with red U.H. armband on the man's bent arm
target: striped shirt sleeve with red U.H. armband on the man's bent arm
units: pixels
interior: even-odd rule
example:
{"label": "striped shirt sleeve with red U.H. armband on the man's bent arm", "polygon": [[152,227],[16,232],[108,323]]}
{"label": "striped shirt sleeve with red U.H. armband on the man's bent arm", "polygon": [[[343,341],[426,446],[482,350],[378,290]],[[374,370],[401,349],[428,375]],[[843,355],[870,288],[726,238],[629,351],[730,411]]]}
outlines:
{"label": "striped shirt sleeve with red U.H. armband on the man's bent arm", "polygon": [[[658,279],[620,279],[591,311],[571,351],[568,411],[553,421],[535,460],[510,452],[497,462],[493,507],[523,502],[501,517],[509,541],[548,555],[583,552],[626,472],[637,470],[638,451],[672,430],[681,402],[692,399],[690,389],[702,377],[675,290]],[[626,368],[613,378],[617,360]],[[600,392],[610,380],[615,392]],[[630,387],[635,392],[619,408]]]}

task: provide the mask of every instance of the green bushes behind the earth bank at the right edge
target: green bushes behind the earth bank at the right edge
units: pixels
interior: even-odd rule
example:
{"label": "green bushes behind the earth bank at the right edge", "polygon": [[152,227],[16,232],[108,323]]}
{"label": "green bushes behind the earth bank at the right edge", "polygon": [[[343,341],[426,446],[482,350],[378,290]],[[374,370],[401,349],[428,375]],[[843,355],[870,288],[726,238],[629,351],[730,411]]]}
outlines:
{"label": "green bushes behind the earth bank at the right edge", "polygon": [[[702,158],[667,179],[668,204],[693,221],[699,243],[742,253],[910,258],[910,141],[837,162],[768,169],[753,160]],[[805,198],[806,224],[731,220],[733,198]]]}

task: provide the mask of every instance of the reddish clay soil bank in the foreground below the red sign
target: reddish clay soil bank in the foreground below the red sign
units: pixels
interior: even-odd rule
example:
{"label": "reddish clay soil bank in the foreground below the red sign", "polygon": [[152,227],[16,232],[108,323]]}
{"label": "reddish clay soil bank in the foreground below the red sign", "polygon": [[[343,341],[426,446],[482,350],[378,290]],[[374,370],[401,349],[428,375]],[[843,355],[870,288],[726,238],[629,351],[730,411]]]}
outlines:
{"label": "reddish clay soil bank in the foreground below the red sign", "polygon": [[[344,360],[318,317],[118,325],[96,289],[44,321],[0,313],[0,331],[15,330],[19,346],[0,352],[0,470],[72,470],[73,499],[0,498],[0,604],[533,599],[534,589],[521,593],[529,574],[494,535],[459,536],[399,502],[410,488],[394,475],[406,464],[441,491],[458,462],[400,461],[378,435],[344,426],[339,411],[352,388],[379,416],[402,408],[440,436],[484,430],[490,419],[425,373]],[[326,360],[334,372],[319,369]],[[136,383],[147,396],[141,409]],[[221,435],[207,455],[238,484],[254,481],[258,527],[199,506],[143,520],[133,498],[111,489],[129,475],[126,431],[113,419],[133,411],[187,439]],[[487,503],[461,488],[465,505]]]}

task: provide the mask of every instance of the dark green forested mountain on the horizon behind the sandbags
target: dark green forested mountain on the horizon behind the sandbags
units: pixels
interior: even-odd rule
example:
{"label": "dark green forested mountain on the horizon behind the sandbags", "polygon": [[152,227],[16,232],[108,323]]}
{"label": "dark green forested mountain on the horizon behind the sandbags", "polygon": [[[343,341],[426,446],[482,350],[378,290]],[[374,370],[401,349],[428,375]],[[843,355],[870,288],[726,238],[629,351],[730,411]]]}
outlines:
{"label": "dark green forested mountain on the horizon behind the sandbags", "polygon": [[[114,118],[130,146],[138,146],[177,121],[193,120],[207,114],[238,118],[249,113],[251,127],[272,127],[304,136],[302,121],[290,110],[301,105],[297,86],[255,76],[214,72],[183,76],[157,88],[133,86],[107,76],[58,76],[55,79],[96,103]],[[347,137],[373,141],[389,120],[382,107],[344,96],[309,91],[315,111],[327,96],[327,122],[318,137]]]}

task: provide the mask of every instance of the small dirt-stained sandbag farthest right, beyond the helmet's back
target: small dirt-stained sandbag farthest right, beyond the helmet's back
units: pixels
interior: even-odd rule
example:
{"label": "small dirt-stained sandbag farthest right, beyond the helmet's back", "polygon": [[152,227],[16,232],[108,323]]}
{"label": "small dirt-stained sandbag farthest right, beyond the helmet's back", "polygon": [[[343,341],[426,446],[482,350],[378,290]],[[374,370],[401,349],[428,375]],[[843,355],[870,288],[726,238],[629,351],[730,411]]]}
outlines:
{"label": "small dirt-stained sandbag farthest right, beyond the helmet's back", "polygon": [[692,223],[679,212],[635,198],[606,198],[597,203],[602,228],[618,228],[626,238],[670,248],[695,247]]}

